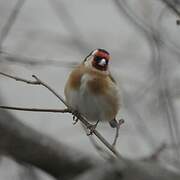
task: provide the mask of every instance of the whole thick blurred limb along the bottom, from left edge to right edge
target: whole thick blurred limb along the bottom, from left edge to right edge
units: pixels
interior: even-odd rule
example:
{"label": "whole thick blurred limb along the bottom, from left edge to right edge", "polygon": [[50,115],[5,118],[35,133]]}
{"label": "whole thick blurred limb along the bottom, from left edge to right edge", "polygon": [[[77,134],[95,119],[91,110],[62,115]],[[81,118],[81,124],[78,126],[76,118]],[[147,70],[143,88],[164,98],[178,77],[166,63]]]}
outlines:
{"label": "whole thick blurred limb along the bottom, from left edge to right edge", "polygon": [[97,161],[25,126],[0,111],[0,153],[40,168],[58,179],[75,180],[179,180],[180,175],[153,161]]}

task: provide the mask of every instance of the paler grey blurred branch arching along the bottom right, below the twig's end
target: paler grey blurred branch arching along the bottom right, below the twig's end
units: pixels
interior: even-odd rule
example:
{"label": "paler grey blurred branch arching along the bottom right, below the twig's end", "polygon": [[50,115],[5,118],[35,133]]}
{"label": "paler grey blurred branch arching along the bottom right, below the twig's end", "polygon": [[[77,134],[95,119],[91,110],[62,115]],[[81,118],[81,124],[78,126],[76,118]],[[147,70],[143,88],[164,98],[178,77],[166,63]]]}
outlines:
{"label": "paler grey blurred branch arching along the bottom right, below the twig's end", "polygon": [[154,162],[128,161],[122,166],[118,161],[90,169],[75,180],[179,180],[177,173],[170,172]]}

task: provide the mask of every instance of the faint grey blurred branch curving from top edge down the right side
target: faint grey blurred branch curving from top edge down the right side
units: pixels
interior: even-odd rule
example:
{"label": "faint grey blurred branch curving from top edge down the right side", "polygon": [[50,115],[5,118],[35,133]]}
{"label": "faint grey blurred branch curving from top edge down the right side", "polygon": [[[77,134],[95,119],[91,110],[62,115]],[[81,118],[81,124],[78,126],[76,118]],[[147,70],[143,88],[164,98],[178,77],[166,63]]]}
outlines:
{"label": "faint grey blurred branch curving from top edge down the right side", "polygon": [[[158,96],[159,101],[163,110],[163,114],[166,117],[166,120],[168,122],[169,132],[172,143],[177,143],[177,138],[179,137],[178,133],[178,126],[177,126],[177,119],[173,113],[174,108],[172,101],[169,96],[169,89],[167,89],[167,79],[165,78],[166,75],[164,74],[162,70],[162,59],[161,59],[161,46],[162,44],[167,45],[166,41],[162,38],[161,34],[156,31],[151,25],[143,22],[137,15],[134,13],[134,10],[132,10],[130,7],[128,7],[127,2],[125,0],[114,0],[113,1],[118,8],[119,13],[123,13],[125,17],[127,17],[128,20],[136,27],[146,38],[147,43],[149,44],[150,50],[151,50],[151,62],[152,62],[152,70],[154,75],[154,87],[158,89]],[[163,42],[163,43],[162,43]],[[170,48],[170,46],[167,46],[170,50],[174,47]],[[143,123],[143,122],[141,122]],[[144,127],[145,123],[144,123]],[[147,131],[148,132],[148,131]],[[147,134],[147,137],[149,136],[151,138],[151,135]],[[153,140],[155,141],[155,140]],[[152,141],[152,144],[154,142]],[[177,157],[179,156],[179,152],[176,151]]]}

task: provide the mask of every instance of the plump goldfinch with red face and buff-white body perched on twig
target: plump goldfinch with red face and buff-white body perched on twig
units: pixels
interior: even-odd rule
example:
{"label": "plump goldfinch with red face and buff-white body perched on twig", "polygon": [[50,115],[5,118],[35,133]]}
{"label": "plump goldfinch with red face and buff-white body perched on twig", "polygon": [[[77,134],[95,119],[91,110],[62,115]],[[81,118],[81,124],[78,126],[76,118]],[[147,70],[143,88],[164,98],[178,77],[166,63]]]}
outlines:
{"label": "plump goldfinch with red face and buff-white body perched on twig", "polygon": [[120,109],[119,89],[109,70],[111,57],[104,49],[93,50],[70,73],[64,88],[67,104],[97,124],[109,122],[117,127]]}

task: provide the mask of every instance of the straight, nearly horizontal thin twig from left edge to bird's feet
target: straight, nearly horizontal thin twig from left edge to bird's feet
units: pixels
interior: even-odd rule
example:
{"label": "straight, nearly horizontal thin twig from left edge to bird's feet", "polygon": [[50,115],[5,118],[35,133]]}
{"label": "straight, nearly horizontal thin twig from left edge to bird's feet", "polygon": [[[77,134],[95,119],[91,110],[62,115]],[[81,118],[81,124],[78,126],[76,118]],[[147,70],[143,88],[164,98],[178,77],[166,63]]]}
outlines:
{"label": "straight, nearly horizontal thin twig from left edge to bird's feet", "polygon": [[22,108],[12,106],[0,106],[0,109],[10,109],[18,111],[32,111],[32,112],[53,112],[53,113],[70,113],[68,109],[42,109],[42,108]]}

